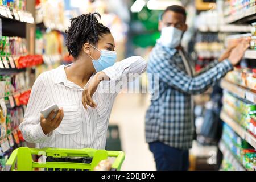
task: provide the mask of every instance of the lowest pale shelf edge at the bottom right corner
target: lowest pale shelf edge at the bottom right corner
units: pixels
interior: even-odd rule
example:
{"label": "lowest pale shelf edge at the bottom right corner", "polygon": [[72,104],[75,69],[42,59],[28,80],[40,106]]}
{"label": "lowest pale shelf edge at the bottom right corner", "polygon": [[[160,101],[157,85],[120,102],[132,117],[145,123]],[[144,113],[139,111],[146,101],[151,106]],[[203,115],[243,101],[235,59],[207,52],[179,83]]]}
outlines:
{"label": "lowest pale shelf edge at the bottom right corner", "polygon": [[243,167],[243,165],[236,158],[236,156],[234,156],[234,154],[229,150],[224,141],[221,140],[218,146],[222,154],[225,155],[229,162],[232,164],[232,166],[236,168],[236,171],[246,171],[246,168]]}

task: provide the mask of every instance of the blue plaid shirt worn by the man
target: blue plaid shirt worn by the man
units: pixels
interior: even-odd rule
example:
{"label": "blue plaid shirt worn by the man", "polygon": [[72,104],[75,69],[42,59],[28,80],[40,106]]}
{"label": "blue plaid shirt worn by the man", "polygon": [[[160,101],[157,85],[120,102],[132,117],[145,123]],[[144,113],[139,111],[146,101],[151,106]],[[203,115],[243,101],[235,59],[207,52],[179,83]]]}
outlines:
{"label": "blue plaid shirt worn by the man", "polygon": [[189,76],[179,52],[156,43],[147,73],[158,74],[159,83],[152,79],[152,85],[154,94],[158,92],[159,97],[151,100],[146,113],[147,143],[159,141],[183,150],[191,148],[195,134],[192,94],[205,92],[232,69],[228,60],[221,63],[216,60],[200,75]]}

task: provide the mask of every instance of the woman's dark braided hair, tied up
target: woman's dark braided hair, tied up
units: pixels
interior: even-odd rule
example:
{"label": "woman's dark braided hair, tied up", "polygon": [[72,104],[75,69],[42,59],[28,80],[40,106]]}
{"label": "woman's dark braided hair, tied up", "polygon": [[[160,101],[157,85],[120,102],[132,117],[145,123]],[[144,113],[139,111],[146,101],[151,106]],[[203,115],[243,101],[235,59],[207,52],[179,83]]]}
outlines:
{"label": "woman's dark braided hair, tied up", "polygon": [[66,31],[65,44],[68,47],[69,55],[75,59],[86,42],[96,44],[100,36],[110,33],[109,28],[99,23],[95,15],[101,18],[99,13],[88,13],[71,19],[71,26]]}

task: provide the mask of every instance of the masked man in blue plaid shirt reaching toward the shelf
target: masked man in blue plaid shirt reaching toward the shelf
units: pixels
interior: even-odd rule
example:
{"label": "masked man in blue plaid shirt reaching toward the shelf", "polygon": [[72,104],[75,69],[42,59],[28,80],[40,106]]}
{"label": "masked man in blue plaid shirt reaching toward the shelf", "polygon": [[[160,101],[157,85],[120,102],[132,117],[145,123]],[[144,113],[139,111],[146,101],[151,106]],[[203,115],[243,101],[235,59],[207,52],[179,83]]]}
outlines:
{"label": "masked man in blue plaid shirt reaching toward the shelf", "polygon": [[[146,113],[146,141],[158,170],[188,170],[192,140],[195,139],[193,94],[205,92],[233,70],[249,47],[249,39],[230,47],[219,60],[195,75],[189,56],[180,46],[187,30],[184,7],[169,6],[159,21],[161,37],[150,54],[147,72],[158,74],[154,94]],[[158,86],[157,86],[158,85]]]}

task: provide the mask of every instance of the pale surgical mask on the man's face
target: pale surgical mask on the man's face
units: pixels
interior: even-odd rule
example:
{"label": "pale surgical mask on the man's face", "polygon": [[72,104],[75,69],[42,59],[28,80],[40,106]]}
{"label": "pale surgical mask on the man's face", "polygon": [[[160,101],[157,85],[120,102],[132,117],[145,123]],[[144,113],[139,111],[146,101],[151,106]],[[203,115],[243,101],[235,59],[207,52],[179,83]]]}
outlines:
{"label": "pale surgical mask on the man's face", "polygon": [[164,27],[162,28],[159,41],[163,46],[176,48],[181,43],[182,35],[183,31],[175,27]]}

